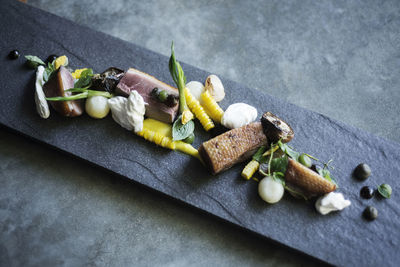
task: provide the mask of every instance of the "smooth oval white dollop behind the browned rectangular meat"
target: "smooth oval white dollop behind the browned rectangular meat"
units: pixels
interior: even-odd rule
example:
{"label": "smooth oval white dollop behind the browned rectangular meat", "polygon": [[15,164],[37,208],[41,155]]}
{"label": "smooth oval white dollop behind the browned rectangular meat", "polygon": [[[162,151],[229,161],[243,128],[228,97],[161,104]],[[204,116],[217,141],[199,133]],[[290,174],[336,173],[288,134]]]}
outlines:
{"label": "smooth oval white dollop behind the browned rectangular meat", "polygon": [[257,118],[257,109],[245,103],[230,105],[224,112],[221,124],[229,129],[235,129],[249,124]]}

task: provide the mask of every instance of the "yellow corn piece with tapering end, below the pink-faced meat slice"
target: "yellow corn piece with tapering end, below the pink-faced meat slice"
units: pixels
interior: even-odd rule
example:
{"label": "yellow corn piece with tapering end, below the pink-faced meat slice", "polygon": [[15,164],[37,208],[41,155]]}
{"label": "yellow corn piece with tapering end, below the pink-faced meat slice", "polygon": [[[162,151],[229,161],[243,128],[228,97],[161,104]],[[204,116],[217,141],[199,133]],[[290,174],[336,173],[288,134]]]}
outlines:
{"label": "yellow corn piece with tapering end, below the pink-faced meat slice", "polygon": [[153,119],[145,119],[143,121],[143,130],[136,134],[156,145],[178,150],[201,160],[199,152],[193,146],[183,141],[172,140],[172,126],[170,124]]}

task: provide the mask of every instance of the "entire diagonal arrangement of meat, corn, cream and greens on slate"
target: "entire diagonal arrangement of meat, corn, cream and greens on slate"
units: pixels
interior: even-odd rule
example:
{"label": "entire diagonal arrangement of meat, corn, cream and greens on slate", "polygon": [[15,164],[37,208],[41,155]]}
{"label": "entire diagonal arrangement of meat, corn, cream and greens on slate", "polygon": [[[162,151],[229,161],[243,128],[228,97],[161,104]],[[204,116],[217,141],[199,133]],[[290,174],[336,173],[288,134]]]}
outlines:
{"label": "entire diagonal arrangement of meat, corn, cream and greens on slate", "polygon": [[[19,52],[13,51],[10,58],[17,55]],[[289,192],[296,198],[316,199],[316,210],[323,215],[351,204],[335,192],[338,185],[330,162],[321,163],[288,145],[295,136],[288,122],[269,111],[257,120],[257,109],[249,103],[231,103],[223,110],[219,102],[227,92],[216,75],[208,76],[204,84],[187,82],[173,44],[169,71],[176,88],[134,68],[110,67],[93,73],[90,68],[71,69],[66,56],[51,56],[47,63],[36,56],[26,58],[36,69],[35,103],[44,119],[49,118],[50,107],[65,117],[86,112],[102,119],[111,112],[121,127],[158,146],[199,159],[213,175],[250,160],[241,175],[259,183],[258,194],[267,203],[277,203]],[[195,119],[204,131],[218,124],[226,131],[196,149],[192,146]],[[360,179],[369,176],[367,167],[357,167]],[[379,190],[390,197],[390,186],[382,185]],[[363,189],[362,195],[368,198],[373,192]],[[376,218],[372,208],[367,213],[368,218]]]}

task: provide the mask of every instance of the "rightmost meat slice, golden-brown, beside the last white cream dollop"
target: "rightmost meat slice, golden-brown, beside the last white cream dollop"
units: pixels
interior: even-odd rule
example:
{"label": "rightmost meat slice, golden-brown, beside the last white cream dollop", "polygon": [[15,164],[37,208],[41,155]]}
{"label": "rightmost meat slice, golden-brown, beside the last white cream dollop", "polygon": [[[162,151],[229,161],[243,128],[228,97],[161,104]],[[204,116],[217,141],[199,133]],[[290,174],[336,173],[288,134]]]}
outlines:
{"label": "rightmost meat slice, golden-brown, beside the last white cream dollop", "polygon": [[323,195],[336,189],[334,183],[290,158],[285,172],[285,182],[301,190],[308,197]]}

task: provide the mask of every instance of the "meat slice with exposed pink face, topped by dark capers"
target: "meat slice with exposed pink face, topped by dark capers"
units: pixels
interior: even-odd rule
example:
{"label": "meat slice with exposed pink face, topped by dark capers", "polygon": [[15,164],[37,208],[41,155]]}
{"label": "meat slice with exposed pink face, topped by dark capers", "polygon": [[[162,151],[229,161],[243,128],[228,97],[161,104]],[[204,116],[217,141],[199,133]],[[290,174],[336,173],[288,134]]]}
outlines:
{"label": "meat slice with exposed pink face, topped by dark capers", "polygon": [[153,76],[130,68],[118,83],[115,92],[122,96],[128,96],[131,91],[136,90],[143,97],[146,105],[146,116],[162,122],[172,123],[178,112],[179,104],[168,106],[160,103],[151,96],[154,88],[167,91],[168,94],[179,96],[178,89],[169,86]]}

